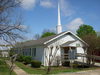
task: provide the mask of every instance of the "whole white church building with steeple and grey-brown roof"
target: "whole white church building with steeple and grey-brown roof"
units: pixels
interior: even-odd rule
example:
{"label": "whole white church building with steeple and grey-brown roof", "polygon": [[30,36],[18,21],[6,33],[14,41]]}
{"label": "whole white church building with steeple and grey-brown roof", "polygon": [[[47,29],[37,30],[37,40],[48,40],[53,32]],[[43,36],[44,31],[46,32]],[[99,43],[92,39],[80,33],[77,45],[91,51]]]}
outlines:
{"label": "whole white church building with steeple and grey-brown roof", "polygon": [[56,65],[57,57],[60,59],[60,64],[64,61],[70,62],[70,59],[82,61],[83,57],[77,57],[77,54],[86,54],[88,45],[71,31],[62,32],[59,4],[56,29],[56,35],[17,43],[14,51],[17,54],[32,56],[33,60],[41,61],[44,66],[48,66],[49,60],[53,61],[52,65]]}

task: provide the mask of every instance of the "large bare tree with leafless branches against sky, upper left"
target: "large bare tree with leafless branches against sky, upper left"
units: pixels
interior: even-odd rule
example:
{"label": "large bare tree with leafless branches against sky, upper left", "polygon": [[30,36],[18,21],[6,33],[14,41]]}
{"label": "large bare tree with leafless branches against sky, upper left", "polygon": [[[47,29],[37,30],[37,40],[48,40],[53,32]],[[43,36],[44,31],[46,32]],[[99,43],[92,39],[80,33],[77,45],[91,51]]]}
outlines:
{"label": "large bare tree with leafless branches against sky, upper left", "polygon": [[[14,16],[16,15],[14,11],[17,10],[20,3],[21,0],[0,0],[0,39],[12,46],[13,42],[23,38],[21,32],[25,31],[22,26],[21,16]],[[11,72],[12,69],[10,75]]]}

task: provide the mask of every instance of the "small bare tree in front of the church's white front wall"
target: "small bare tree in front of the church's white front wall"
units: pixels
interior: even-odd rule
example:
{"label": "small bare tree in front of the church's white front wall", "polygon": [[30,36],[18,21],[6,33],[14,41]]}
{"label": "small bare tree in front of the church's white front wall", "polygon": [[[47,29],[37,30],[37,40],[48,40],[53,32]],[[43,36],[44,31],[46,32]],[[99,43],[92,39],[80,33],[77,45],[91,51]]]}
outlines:
{"label": "small bare tree in front of the church's white front wall", "polygon": [[47,54],[45,54],[46,62],[47,62],[47,71],[46,74],[49,74],[51,71],[51,66],[54,64],[57,65],[56,63],[56,57],[57,57],[57,52],[60,49],[59,44],[57,45],[52,45],[47,47]]}

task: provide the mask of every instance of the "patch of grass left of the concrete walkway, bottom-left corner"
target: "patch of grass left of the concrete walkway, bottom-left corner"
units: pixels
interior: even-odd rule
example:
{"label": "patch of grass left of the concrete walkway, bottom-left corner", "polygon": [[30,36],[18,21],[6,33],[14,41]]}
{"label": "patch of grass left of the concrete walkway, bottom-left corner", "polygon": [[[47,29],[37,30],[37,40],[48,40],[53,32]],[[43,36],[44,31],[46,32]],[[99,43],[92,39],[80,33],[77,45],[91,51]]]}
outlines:
{"label": "patch of grass left of the concrete walkway, bottom-left corner", "polygon": [[[9,66],[5,63],[4,59],[0,59],[0,75],[9,75]],[[12,75],[16,75],[12,72]]]}

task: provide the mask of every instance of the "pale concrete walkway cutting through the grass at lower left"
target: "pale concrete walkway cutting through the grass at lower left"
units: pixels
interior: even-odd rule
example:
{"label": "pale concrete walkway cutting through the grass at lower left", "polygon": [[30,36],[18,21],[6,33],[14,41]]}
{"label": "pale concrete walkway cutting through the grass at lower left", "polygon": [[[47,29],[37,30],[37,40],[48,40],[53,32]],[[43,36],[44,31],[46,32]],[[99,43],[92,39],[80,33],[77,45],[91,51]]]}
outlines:
{"label": "pale concrete walkway cutting through the grass at lower left", "polygon": [[[6,63],[11,66],[11,62],[10,61],[6,61]],[[19,68],[18,66],[16,66],[15,64],[13,65],[13,71],[17,74],[17,75],[29,75],[27,74],[25,71],[23,71],[21,68]]]}

